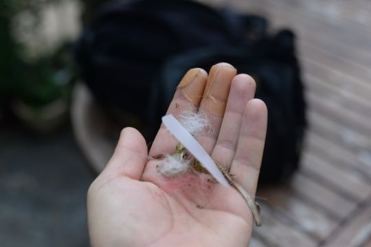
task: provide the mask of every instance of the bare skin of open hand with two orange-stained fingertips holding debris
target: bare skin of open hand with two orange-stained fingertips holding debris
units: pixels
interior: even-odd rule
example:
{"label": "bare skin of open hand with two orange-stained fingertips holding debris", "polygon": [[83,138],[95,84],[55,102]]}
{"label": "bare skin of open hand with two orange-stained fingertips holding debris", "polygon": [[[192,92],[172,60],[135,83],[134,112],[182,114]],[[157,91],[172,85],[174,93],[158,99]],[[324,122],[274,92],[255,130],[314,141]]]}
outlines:
{"label": "bare skin of open hand with two orange-stained fingertips holding debris", "polygon": [[[267,130],[267,108],[254,99],[256,85],[230,64],[216,64],[186,74],[167,114],[192,110],[212,125],[198,141],[215,161],[254,198]],[[106,168],[88,191],[88,224],[92,246],[247,246],[253,217],[233,187],[206,183],[200,190],[190,172],[188,186],[157,172],[161,161],[147,156],[173,154],[177,141],[161,126],[152,148],[142,135],[124,128]],[[207,175],[205,175],[207,176]],[[181,180],[174,178],[171,181]],[[193,181],[193,182],[192,182]],[[205,181],[205,180],[203,180]],[[205,192],[206,191],[206,192]]]}

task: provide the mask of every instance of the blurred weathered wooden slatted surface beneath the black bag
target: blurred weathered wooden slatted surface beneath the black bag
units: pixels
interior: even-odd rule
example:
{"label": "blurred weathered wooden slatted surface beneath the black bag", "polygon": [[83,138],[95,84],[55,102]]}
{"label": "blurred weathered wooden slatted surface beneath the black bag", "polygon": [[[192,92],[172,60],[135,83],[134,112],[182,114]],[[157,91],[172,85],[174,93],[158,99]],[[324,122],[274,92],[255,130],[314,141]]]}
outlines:
{"label": "blurred weathered wooden slatted surface beneath the black bag", "polygon": [[[267,200],[260,201],[264,222],[251,246],[371,246],[371,1],[223,3],[295,31],[308,100],[301,169],[288,185],[258,190]],[[76,136],[91,163],[105,164],[114,143],[81,120],[101,119],[83,94],[72,119],[95,136]]]}

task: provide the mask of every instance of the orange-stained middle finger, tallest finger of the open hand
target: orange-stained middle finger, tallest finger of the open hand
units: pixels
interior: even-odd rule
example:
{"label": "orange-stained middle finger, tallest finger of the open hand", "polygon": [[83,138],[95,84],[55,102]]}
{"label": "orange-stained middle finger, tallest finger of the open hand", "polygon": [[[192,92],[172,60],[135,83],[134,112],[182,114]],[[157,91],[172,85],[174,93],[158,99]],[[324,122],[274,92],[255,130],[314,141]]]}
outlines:
{"label": "orange-stained middle finger, tallest finger of the open hand", "polygon": [[199,113],[207,115],[212,132],[199,137],[199,142],[210,154],[221,128],[221,122],[227,105],[227,98],[232,79],[236,76],[236,69],[225,62],[215,64],[209,73]]}

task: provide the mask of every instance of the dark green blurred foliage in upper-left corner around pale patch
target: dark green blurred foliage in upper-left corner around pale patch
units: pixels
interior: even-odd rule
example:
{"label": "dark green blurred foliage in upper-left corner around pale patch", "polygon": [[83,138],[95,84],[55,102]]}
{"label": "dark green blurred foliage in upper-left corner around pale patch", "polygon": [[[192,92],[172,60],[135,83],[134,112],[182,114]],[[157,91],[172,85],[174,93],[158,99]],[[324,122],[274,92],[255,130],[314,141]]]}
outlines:
{"label": "dark green blurred foliage in upper-left corner around pale patch", "polygon": [[0,0],[0,112],[13,99],[38,108],[66,97],[74,78],[70,47],[63,45],[49,56],[27,61],[22,56],[24,47],[12,36],[16,14],[28,10],[37,20],[43,5],[58,1],[63,0]]}

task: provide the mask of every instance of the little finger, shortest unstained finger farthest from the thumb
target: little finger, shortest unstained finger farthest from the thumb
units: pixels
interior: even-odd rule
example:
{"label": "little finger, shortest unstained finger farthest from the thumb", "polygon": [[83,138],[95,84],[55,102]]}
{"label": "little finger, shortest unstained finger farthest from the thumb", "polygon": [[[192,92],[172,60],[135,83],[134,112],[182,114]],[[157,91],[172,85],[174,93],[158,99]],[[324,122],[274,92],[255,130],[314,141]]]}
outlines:
{"label": "little finger, shortest unstained finger farthest from the thumb", "polygon": [[245,108],[236,155],[230,173],[247,192],[255,195],[267,133],[267,106],[251,99]]}

